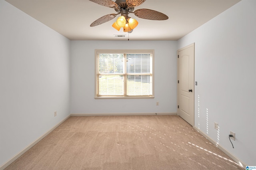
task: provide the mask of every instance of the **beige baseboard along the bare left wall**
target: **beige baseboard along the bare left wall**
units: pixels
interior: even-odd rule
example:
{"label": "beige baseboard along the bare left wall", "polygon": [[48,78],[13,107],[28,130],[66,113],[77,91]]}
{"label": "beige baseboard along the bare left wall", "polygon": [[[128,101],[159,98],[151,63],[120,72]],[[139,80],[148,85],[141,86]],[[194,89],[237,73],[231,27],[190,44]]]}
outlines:
{"label": "beige baseboard along the bare left wall", "polygon": [[22,151],[20,151],[18,154],[16,154],[15,156],[13,156],[12,158],[10,158],[8,161],[6,161],[4,164],[2,164],[0,166],[0,170],[4,170],[4,168],[6,168],[7,166],[9,166],[12,162],[14,162],[16,159],[18,159],[20,156],[22,156],[25,152],[27,152],[30,148],[32,148],[35,144],[37,144],[40,140],[42,140],[45,136],[47,136],[50,132],[52,132],[55,128],[57,128],[58,126],[60,126],[64,121],[66,121],[68,118],[70,117],[70,115],[68,117],[66,117],[64,120],[60,121],[57,125],[55,125],[54,127],[52,127],[50,130],[48,130],[48,132],[46,132],[45,134],[43,134],[42,136],[40,136],[39,138],[37,138],[34,142],[32,142],[31,144],[29,144],[26,148],[24,148]]}

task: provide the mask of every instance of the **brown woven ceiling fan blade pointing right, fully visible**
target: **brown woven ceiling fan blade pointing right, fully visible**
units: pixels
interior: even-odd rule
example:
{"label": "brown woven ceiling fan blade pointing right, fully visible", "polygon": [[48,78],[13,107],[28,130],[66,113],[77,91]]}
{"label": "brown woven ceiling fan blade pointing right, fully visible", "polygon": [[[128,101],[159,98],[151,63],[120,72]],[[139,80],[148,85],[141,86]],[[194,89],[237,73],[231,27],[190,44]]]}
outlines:
{"label": "brown woven ceiling fan blade pointing right, fully visible", "polygon": [[169,18],[166,14],[163,14],[162,12],[149,9],[138,9],[134,11],[134,15],[147,20],[167,20]]}

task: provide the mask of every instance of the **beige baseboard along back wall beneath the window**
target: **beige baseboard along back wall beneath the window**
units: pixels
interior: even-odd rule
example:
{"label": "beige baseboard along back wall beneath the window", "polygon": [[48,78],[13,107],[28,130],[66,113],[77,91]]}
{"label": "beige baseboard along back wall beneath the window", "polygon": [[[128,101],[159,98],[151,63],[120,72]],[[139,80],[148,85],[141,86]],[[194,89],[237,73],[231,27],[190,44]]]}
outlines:
{"label": "beige baseboard along back wall beneath the window", "polygon": [[177,115],[177,113],[85,113],[85,114],[74,114],[70,116],[134,116],[134,115]]}

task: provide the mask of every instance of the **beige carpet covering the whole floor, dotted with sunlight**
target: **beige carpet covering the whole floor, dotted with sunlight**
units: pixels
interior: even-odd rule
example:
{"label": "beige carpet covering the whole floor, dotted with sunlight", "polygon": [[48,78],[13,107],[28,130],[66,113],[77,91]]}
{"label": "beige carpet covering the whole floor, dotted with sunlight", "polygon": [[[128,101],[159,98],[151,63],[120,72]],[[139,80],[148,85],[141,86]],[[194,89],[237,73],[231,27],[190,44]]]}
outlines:
{"label": "beige carpet covering the whole floor, dotted with sunlight", "polygon": [[178,116],[70,117],[6,170],[243,170]]}

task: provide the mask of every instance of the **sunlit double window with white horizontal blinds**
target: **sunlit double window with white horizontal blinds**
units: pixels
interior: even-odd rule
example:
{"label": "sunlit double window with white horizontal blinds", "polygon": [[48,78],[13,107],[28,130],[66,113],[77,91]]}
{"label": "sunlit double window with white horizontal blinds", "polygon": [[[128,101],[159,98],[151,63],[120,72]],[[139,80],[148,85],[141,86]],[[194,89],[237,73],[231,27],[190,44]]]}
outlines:
{"label": "sunlit double window with white horizontal blinds", "polygon": [[154,50],[96,50],[96,97],[153,97]]}

